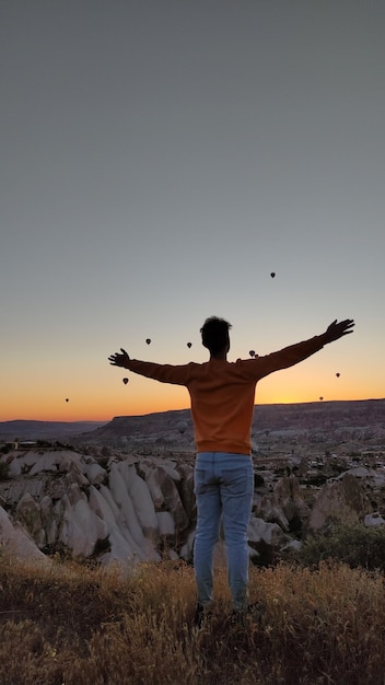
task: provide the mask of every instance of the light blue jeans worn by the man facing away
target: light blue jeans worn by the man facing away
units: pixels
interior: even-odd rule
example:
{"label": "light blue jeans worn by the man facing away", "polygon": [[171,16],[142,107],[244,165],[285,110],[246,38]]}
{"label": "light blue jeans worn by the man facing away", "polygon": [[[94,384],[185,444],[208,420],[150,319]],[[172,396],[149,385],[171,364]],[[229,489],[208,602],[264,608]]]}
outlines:
{"label": "light blue jeans worn by the man facing away", "polygon": [[247,529],[253,492],[253,462],[248,454],[197,454],[194,568],[199,604],[206,605],[213,601],[213,553],[219,539],[221,519],[228,547],[228,578],[233,608],[242,611],[247,604]]}

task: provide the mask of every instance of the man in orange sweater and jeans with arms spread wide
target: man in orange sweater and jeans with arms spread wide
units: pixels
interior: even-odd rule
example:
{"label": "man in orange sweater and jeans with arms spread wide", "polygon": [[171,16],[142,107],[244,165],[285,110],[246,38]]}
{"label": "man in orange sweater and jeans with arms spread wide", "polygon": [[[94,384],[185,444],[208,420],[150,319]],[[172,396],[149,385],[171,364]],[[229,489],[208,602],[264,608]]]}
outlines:
{"label": "man in orange sweater and jeans with arms spread wide", "polygon": [[200,329],[208,362],[183,365],[156,364],[130,359],[127,352],[112,355],[115,367],[162,383],[187,387],[191,400],[197,458],[195,495],[197,530],[194,567],[200,624],[213,601],[213,552],[222,520],[228,547],[228,577],[234,612],[245,612],[248,599],[247,527],[252,513],[254,475],[250,429],[255,388],[264,376],[287,369],[320,350],[328,342],[352,333],[354,322],[334,321],[325,333],[265,357],[228,361],[231,324],[207,318]]}

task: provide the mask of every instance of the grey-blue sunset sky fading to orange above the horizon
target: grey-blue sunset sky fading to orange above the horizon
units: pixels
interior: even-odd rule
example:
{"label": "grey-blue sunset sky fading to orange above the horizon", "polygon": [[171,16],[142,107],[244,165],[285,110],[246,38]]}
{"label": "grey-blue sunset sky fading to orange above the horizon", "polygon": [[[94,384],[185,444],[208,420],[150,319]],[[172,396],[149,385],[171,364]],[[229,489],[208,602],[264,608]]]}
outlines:
{"label": "grey-blue sunset sky fading to orange above the horizon", "polygon": [[203,362],[211,315],[230,361],[354,318],[256,404],[385,396],[384,31],[383,0],[0,0],[0,420],[186,408],[108,356]]}

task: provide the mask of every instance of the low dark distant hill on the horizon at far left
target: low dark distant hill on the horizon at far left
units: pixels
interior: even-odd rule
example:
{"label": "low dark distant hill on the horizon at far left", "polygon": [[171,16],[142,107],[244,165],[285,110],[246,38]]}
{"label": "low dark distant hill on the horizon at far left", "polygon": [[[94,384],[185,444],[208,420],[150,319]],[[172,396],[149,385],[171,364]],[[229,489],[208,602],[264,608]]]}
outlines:
{"label": "low dark distant hill on the horizon at far left", "polygon": [[0,440],[58,440],[94,431],[106,421],[0,421]]}

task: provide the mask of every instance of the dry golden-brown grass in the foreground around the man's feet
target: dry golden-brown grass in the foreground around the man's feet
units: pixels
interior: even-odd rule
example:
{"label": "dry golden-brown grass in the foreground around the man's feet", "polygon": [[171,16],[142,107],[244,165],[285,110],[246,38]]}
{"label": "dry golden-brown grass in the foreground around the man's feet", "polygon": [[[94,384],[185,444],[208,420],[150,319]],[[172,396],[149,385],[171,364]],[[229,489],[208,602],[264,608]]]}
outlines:
{"label": "dry golden-brown grass in the foreground around the man's feet", "polygon": [[128,579],[71,562],[0,557],[0,685],[383,685],[380,574],[323,564],[250,569],[261,615],[231,616],[224,570],[217,604],[192,628],[184,564]]}

